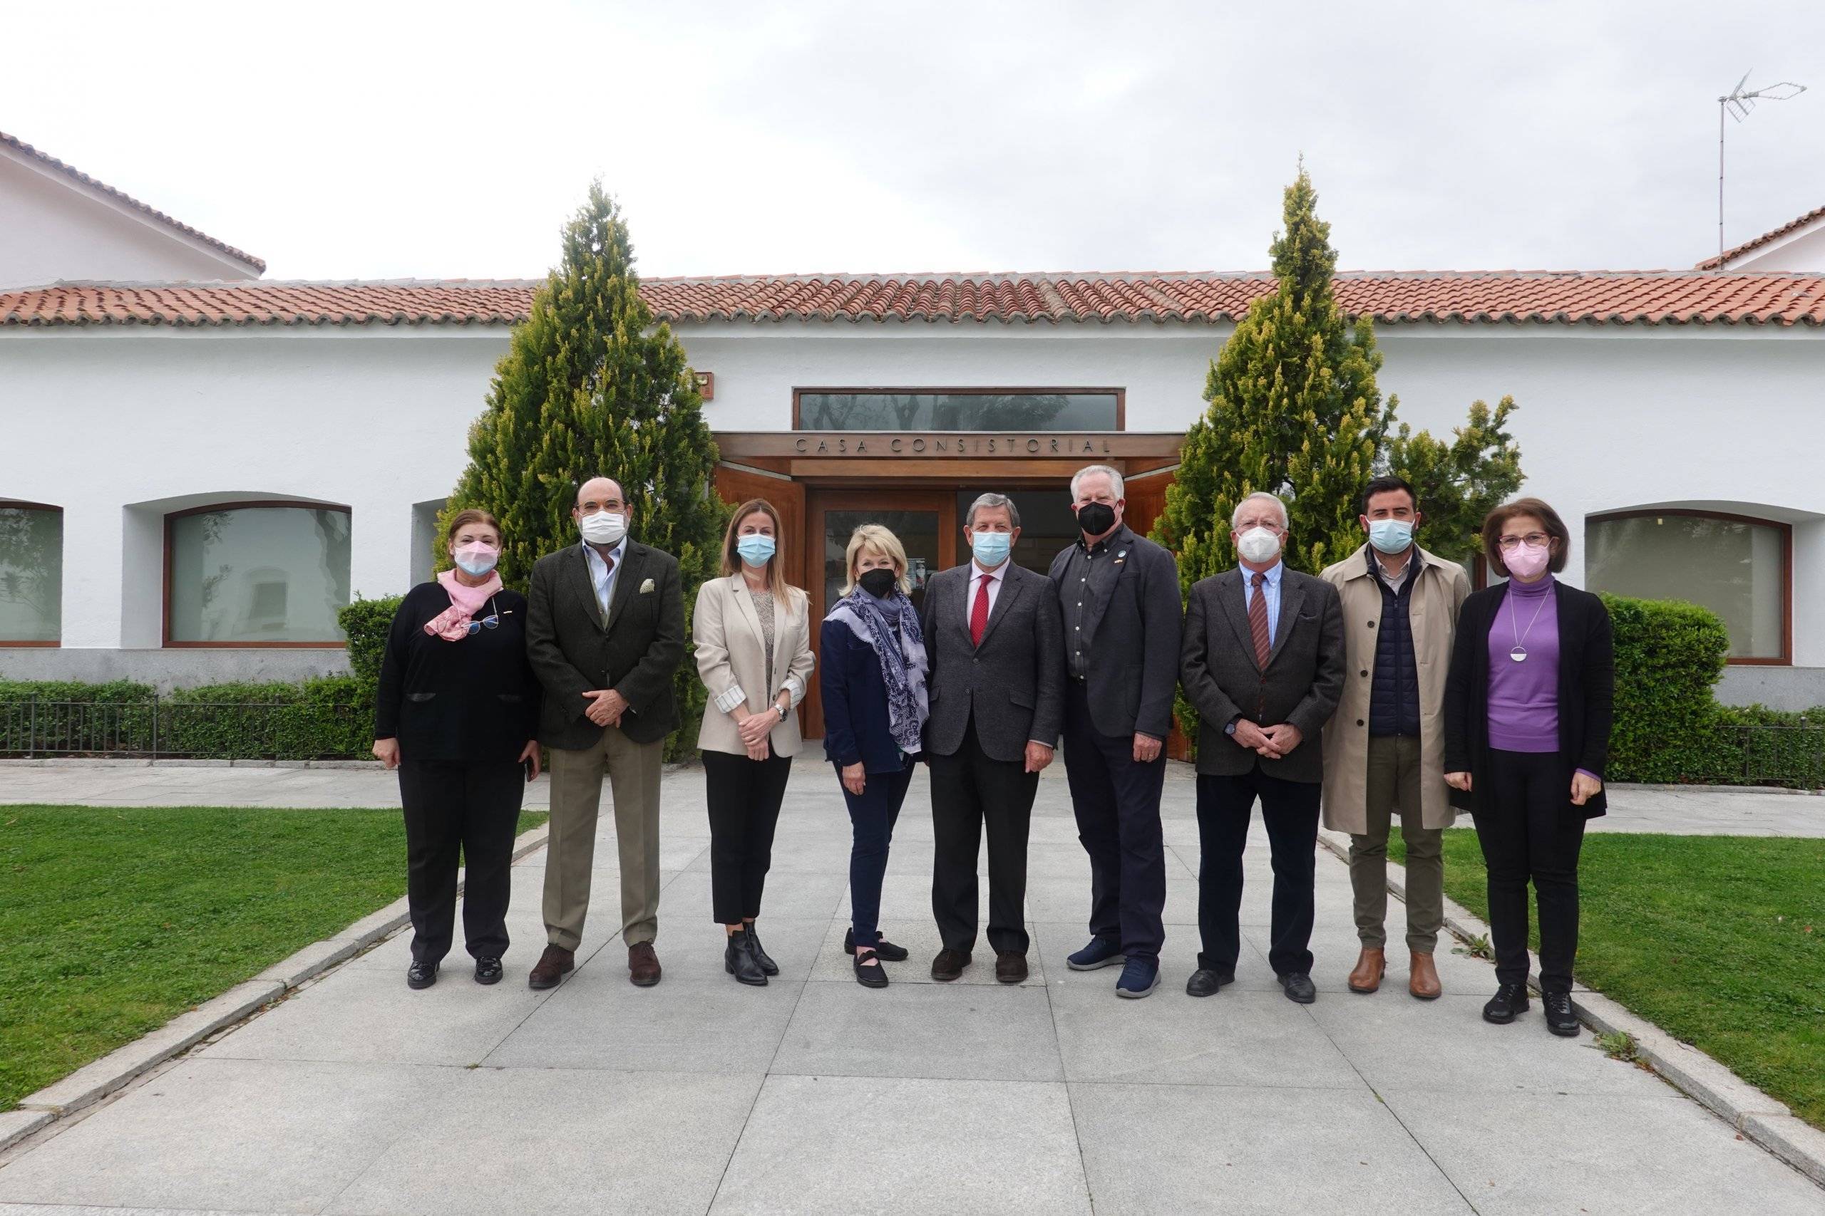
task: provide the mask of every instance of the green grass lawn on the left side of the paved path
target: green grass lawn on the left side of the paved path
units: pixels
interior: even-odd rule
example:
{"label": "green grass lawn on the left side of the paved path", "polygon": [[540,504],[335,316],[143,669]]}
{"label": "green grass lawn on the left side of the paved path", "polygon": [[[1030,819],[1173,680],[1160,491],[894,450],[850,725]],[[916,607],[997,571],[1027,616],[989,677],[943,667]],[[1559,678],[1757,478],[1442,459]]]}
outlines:
{"label": "green grass lawn on the left side of the paved path", "polygon": [[396,809],[0,806],[0,1110],[403,893]]}

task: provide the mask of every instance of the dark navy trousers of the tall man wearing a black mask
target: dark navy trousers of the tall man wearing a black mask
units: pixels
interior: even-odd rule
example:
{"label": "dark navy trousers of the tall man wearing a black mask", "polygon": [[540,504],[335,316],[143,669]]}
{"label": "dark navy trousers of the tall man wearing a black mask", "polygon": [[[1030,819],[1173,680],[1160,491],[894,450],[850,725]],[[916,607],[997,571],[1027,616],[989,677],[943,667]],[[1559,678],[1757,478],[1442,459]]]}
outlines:
{"label": "dark navy trousers of the tall man wearing a black mask", "polygon": [[1133,735],[1099,733],[1084,685],[1066,684],[1064,775],[1077,839],[1090,853],[1090,932],[1119,941],[1130,959],[1159,959],[1166,941],[1166,846],[1159,830],[1166,753],[1135,764]]}

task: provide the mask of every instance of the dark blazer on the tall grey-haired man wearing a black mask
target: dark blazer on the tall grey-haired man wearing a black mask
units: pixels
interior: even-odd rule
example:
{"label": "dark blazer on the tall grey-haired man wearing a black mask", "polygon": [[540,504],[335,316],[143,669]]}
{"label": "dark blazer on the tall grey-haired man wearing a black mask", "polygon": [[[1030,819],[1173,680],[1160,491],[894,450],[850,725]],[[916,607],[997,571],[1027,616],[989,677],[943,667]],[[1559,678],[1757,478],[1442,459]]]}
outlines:
{"label": "dark blazer on the tall grey-haired man wearing a black mask", "polygon": [[[1090,720],[1099,735],[1110,738],[1137,733],[1166,738],[1172,733],[1172,698],[1179,691],[1179,629],[1184,623],[1179,563],[1148,538],[1128,531],[1126,523],[1106,543],[1110,560],[1117,563],[1115,587],[1106,603],[1084,605],[1084,636],[1091,642]],[[1069,651],[1077,629],[1077,596],[1068,600],[1064,594],[1071,549],[1051,560],[1066,678],[1071,675]]]}

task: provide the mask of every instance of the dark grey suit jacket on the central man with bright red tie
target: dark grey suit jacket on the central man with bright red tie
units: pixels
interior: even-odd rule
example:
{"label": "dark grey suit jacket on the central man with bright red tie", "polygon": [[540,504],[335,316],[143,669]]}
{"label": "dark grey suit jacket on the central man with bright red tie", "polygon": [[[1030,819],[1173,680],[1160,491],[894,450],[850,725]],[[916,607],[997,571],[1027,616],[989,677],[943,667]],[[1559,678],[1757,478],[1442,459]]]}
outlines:
{"label": "dark grey suit jacket on the central man with bright red tie", "polygon": [[1026,760],[1027,740],[1058,746],[1064,729],[1064,633],[1058,593],[1044,574],[1007,563],[982,645],[969,640],[975,563],[934,574],[925,585],[925,654],[931,720],[925,742],[956,755],[964,727],[991,760]]}

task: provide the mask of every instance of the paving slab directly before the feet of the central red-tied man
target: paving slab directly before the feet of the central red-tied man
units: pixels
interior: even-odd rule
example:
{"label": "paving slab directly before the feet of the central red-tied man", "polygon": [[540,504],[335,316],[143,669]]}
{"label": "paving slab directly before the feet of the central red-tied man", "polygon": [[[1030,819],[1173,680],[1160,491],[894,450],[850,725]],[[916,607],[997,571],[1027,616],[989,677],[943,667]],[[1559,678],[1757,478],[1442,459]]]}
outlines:
{"label": "paving slab directly before the feet of the central red-tied man", "polygon": [[1046,990],[1002,984],[805,984],[772,1072],[1064,1079]]}

